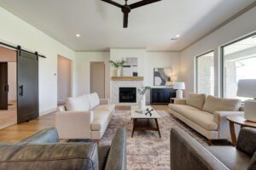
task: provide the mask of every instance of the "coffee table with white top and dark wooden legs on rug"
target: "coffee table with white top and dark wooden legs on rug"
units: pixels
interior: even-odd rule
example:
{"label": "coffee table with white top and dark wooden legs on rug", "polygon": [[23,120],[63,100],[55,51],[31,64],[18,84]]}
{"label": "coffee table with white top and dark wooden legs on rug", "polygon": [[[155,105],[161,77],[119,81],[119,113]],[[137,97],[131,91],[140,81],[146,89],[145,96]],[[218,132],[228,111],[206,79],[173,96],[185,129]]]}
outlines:
{"label": "coffee table with white top and dark wooden legs on rug", "polygon": [[[151,106],[147,106],[149,111],[153,109]],[[158,124],[157,119],[161,116],[158,114],[157,111],[152,111],[152,116],[145,115],[147,111],[143,111],[143,113],[138,113],[138,106],[131,106],[131,119],[133,120],[133,128],[131,133],[131,138],[133,137],[133,133],[135,131],[144,131],[144,130],[153,130],[160,134],[160,127]]]}

